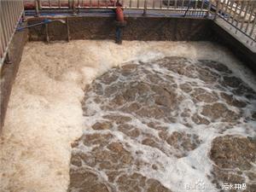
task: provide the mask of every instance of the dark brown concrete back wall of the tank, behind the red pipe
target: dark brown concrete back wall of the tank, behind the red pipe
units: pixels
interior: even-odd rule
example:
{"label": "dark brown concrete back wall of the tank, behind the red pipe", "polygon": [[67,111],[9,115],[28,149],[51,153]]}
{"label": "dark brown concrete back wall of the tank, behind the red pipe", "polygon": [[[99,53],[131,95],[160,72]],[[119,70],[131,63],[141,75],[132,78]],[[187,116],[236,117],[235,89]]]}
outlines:
{"label": "dark brown concrete back wall of the tank, behind the red pipe", "polygon": [[[29,20],[29,25],[38,23],[38,18]],[[65,19],[67,20],[67,19]],[[141,41],[204,41],[212,37],[210,20],[127,17],[124,40]],[[68,17],[70,39],[114,39],[114,17]],[[49,23],[49,40],[67,40],[67,25],[61,22]],[[46,39],[46,26],[32,27],[29,30],[31,41]]]}

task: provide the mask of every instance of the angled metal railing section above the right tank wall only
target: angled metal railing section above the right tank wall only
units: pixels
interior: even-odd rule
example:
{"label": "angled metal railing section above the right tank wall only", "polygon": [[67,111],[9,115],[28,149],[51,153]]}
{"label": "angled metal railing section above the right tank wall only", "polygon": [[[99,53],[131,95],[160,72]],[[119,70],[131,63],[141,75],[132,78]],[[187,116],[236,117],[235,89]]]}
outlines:
{"label": "angled metal railing section above the right tank wall only", "polygon": [[[215,20],[223,19],[230,24],[230,31],[240,32],[247,43],[256,41],[256,1],[254,0],[218,0]],[[240,38],[242,38],[240,36]]]}

